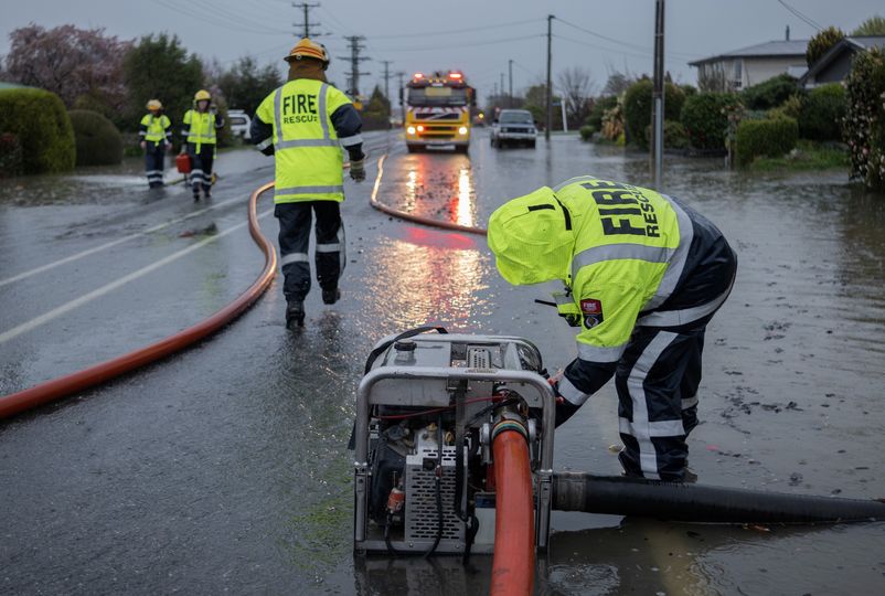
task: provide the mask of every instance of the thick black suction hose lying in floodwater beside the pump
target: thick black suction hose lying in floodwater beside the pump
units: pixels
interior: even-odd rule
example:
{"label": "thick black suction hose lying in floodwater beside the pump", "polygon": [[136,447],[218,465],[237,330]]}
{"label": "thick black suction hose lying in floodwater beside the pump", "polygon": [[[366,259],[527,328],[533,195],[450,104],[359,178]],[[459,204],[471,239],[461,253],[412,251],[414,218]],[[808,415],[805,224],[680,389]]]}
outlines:
{"label": "thick black suction hose lying in floodwater beside the pump", "polygon": [[760,492],[586,472],[553,475],[553,509],[702,523],[885,520],[885,502],[881,500]]}

